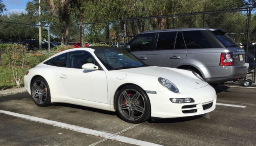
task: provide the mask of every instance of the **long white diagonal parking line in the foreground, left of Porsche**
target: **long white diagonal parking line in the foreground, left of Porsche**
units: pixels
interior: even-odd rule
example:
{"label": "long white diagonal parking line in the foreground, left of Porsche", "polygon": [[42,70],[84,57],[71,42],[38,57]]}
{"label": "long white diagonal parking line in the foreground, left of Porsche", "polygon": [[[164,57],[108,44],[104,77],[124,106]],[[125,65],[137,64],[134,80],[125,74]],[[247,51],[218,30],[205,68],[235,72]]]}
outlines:
{"label": "long white diagonal parking line in the foreground, left of Porsche", "polygon": [[48,125],[52,125],[52,126],[56,126],[56,127],[60,127],[60,128],[74,130],[76,132],[81,132],[81,133],[86,133],[86,134],[90,134],[90,135],[94,135],[94,136],[100,136],[102,138],[117,140],[117,141],[128,143],[128,144],[135,144],[135,145],[139,145],[139,146],[161,146],[159,144],[154,144],[154,143],[151,143],[151,142],[136,140],[136,139],[133,139],[133,138],[119,136],[119,135],[116,135],[116,134],[101,132],[101,131],[92,130],[92,129],[88,129],[88,128],[84,128],[84,127],[80,127],[80,126],[75,126],[75,125],[71,125],[71,124],[66,124],[66,123],[62,123],[62,122],[57,122],[57,121],[53,121],[53,120],[38,118],[38,117],[35,117],[35,116],[29,116],[29,115],[26,115],[26,114],[18,114],[16,112],[10,112],[10,111],[6,111],[6,110],[0,110],[0,113],[8,114],[10,116],[14,116],[14,117],[17,117],[17,118],[23,118],[23,119],[26,119],[26,120],[31,120],[31,121],[34,121],[34,122],[40,122],[40,123],[48,124]]}

